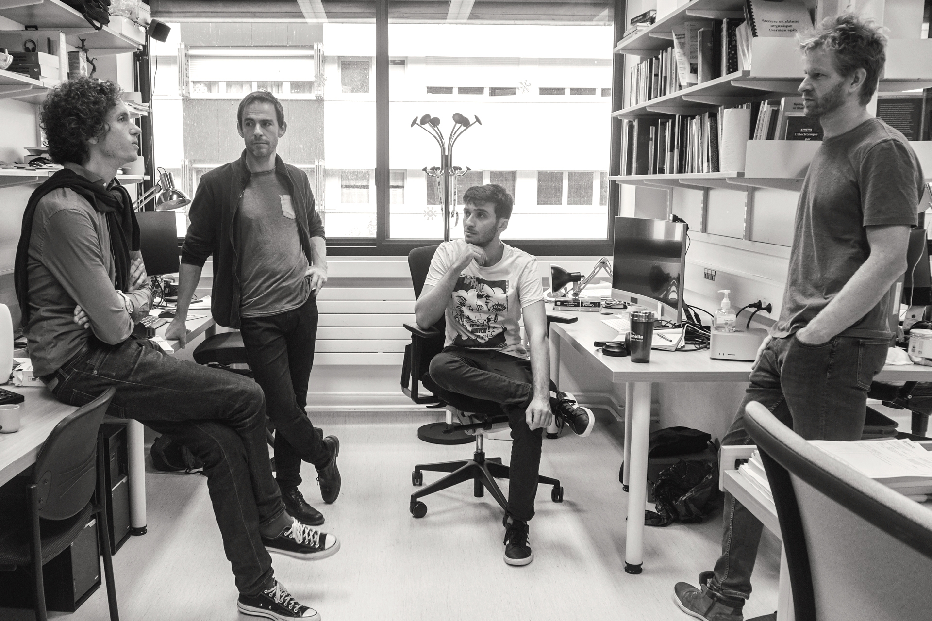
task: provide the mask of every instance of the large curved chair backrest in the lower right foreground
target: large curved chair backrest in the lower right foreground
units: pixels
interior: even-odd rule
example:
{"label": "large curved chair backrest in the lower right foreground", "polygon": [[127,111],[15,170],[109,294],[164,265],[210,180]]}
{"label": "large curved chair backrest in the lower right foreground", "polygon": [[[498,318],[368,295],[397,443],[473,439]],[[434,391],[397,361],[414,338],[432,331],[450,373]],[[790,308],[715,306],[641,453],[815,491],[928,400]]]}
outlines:
{"label": "large curved chair backrest in the lower right foreground", "polygon": [[761,451],[798,621],[900,621],[932,614],[932,508],[812,446],[760,403]]}

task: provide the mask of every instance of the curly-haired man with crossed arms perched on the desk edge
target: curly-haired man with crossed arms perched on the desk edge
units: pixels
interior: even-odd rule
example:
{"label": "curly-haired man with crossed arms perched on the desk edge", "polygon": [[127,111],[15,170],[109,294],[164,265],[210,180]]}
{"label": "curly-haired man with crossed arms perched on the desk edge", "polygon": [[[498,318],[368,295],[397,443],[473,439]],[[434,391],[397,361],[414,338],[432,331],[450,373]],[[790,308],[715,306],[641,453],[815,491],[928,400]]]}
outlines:
{"label": "curly-haired man with crossed arms perched on the desk edge", "polygon": [[268,464],[262,391],[131,336],[152,292],[132,202],[115,180],[138,157],[140,136],[120,95],[113,82],[80,77],[42,106],[49,155],[64,169],[30,198],[16,252],[35,373],[56,398],[78,406],[115,386],[109,413],[181,442],[204,462],[240,613],[320,619],[275,579],[268,553],[315,560],[339,544],[286,512]]}

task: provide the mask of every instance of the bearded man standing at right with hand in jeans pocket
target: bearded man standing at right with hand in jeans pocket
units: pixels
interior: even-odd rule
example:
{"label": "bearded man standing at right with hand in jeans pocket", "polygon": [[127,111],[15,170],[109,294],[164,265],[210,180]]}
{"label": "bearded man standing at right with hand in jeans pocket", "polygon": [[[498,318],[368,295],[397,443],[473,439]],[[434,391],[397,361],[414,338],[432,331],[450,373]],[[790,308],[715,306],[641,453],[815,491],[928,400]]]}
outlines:
{"label": "bearded man standing at right with hand in jeans pocket", "polygon": [[[752,444],[748,401],[804,439],[860,439],[870,382],[893,336],[890,286],[906,269],[923,172],[910,143],[867,104],[884,71],[884,36],[852,15],[801,38],[806,115],[825,140],[802,182],[783,309],[761,344],[750,385],[722,444]],[[741,621],[763,525],[725,494],[721,557],[680,582],[675,601],[707,621]]]}

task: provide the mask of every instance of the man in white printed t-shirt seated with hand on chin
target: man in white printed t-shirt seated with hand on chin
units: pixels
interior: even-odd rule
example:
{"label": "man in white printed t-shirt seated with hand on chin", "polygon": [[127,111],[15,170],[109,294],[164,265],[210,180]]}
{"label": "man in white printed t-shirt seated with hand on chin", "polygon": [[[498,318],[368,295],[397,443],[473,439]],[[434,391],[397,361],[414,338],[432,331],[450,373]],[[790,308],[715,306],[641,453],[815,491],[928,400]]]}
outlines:
{"label": "man in white printed t-shirt seated with hand on chin", "polygon": [[[563,393],[550,392],[550,348],[537,259],[501,242],[514,200],[500,185],[463,195],[465,239],[433,255],[415,304],[421,329],[446,318],[445,348],[431,360],[431,379],[445,390],[501,404],[512,428],[511,483],[505,516],[505,562],[527,565],[528,520],[534,516],[541,436],[554,412],[579,434],[594,421]],[[518,319],[524,317],[528,350]]]}

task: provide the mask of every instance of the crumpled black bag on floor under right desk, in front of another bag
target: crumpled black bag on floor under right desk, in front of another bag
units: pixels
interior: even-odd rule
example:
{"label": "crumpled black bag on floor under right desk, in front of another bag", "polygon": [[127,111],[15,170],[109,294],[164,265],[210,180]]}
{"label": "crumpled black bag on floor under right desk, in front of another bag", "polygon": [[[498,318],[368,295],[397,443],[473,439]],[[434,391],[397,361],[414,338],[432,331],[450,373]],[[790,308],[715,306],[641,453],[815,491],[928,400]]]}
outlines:
{"label": "crumpled black bag on floor under right desk, in front of another bag", "polygon": [[666,468],[653,486],[657,512],[645,511],[648,526],[667,526],[674,521],[701,522],[715,510],[719,496],[719,465],[706,460],[680,459]]}

